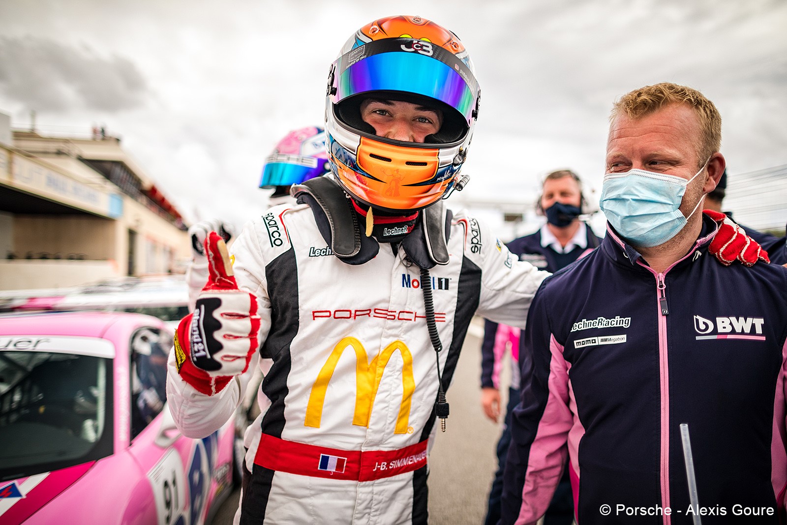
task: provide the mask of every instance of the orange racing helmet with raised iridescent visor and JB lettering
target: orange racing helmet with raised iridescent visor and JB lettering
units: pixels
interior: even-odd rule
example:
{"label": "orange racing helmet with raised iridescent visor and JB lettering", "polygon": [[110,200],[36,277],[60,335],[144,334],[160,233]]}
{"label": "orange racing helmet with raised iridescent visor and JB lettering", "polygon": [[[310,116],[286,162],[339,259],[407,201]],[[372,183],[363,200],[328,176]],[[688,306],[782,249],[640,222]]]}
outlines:
{"label": "orange racing helmet with raised iridescent visor and JB lettering", "polygon": [[[375,135],[360,116],[368,98],[412,102],[442,112],[425,142]],[[421,17],[387,17],[356,31],[331,65],[326,146],[331,171],[353,198],[390,212],[423,209],[460,183],[480,90],[453,32]]]}

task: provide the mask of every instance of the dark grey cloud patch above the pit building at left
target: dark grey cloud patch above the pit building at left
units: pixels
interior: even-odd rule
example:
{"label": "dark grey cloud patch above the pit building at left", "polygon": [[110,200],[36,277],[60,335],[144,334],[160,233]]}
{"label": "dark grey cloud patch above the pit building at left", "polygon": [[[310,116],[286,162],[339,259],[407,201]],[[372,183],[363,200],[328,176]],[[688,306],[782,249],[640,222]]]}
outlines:
{"label": "dark grey cloud patch above the pit building at left", "polygon": [[0,37],[0,91],[30,109],[115,111],[141,105],[148,87],[124,57],[25,36]]}

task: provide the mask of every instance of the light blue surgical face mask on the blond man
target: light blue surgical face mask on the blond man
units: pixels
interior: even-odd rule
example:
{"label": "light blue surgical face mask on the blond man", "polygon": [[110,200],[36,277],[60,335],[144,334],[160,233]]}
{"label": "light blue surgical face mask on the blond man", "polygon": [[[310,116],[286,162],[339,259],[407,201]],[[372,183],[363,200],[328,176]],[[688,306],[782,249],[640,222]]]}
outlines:
{"label": "light blue surgical face mask on the blond man", "polygon": [[703,201],[697,201],[689,217],[679,209],[686,186],[707,165],[706,161],[689,180],[644,169],[608,173],[601,190],[601,211],[615,231],[634,246],[659,246],[678,235]]}

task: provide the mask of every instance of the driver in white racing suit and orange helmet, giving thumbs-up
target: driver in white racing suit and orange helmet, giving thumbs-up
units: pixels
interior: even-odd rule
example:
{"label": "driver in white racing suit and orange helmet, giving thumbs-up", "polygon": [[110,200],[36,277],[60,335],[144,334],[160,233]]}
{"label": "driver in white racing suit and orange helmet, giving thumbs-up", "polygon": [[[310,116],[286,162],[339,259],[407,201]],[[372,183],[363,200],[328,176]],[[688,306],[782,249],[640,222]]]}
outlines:
{"label": "driver in white racing suit and orange helmet, giving thumbs-up", "polygon": [[[451,31],[365,25],[327,83],[334,178],[246,225],[180,324],[168,400],[183,434],[231,417],[259,348],[239,523],[427,523],[427,453],[478,311],[522,327],[547,275],[442,198],[464,185],[480,91]],[[233,275],[234,274],[234,275]],[[258,342],[259,341],[259,342]]]}

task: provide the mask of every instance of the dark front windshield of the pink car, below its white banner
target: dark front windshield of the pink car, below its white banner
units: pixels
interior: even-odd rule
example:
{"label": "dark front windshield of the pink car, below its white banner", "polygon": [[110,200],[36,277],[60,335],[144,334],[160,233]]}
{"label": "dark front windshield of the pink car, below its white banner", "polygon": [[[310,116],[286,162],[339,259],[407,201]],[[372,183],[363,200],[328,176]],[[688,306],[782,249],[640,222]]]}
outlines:
{"label": "dark front windshield of the pink car, below its white banner", "polygon": [[112,453],[111,371],[104,357],[0,351],[0,479]]}

